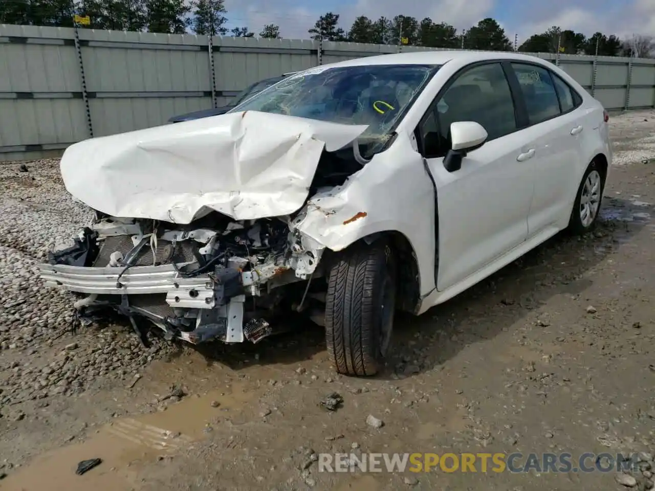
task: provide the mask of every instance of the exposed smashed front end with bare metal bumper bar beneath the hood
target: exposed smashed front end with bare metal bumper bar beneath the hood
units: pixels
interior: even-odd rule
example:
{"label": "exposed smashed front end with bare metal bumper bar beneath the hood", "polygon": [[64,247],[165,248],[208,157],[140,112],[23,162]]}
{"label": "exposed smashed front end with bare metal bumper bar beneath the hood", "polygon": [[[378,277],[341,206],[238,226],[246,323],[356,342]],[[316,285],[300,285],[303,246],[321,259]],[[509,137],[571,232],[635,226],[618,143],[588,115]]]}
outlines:
{"label": "exposed smashed front end with bare metal bumper bar beneath the hood", "polygon": [[[98,214],[100,215],[100,214]],[[100,215],[75,244],[39,266],[48,287],[82,294],[82,319],[115,310],[141,333],[146,318],[168,338],[257,342],[284,302],[305,303],[322,249],[305,250],[284,218],[191,225]],[[286,305],[288,307],[288,305]]]}

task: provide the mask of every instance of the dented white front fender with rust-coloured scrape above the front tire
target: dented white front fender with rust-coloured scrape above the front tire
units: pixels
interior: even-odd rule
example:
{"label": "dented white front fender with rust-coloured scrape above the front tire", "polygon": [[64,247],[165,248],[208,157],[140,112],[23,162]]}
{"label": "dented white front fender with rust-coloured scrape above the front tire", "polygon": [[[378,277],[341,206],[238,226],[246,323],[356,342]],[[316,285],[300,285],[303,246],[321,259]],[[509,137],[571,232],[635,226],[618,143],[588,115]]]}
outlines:
{"label": "dented white front fender with rust-coloured scrape above the front tire", "polygon": [[407,238],[417,257],[421,295],[434,288],[434,189],[407,136],[377,154],[341,186],[317,192],[291,222],[303,249],[341,251],[379,232]]}

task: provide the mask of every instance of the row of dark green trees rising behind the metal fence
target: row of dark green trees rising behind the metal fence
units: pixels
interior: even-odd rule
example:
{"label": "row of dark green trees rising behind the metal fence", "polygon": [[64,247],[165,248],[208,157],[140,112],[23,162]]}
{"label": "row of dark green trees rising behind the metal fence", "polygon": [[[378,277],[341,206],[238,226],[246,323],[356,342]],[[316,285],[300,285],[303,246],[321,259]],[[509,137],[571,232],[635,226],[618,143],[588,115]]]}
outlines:
{"label": "row of dark green trees rising behind the metal fence", "polygon": [[[253,37],[247,26],[228,29],[225,0],[0,0],[0,24],[72,27],[73,16],[88,16],[91,29],[148,31],[202,35]],[[550,52],[600,56],[655,56],[655,38],[634,35],[583,33],[558,26],[536,33],[519,45],[493,18],[458,31],[447,22],[398,15],[394,18],[357,17],[347,31],[339,26],[339,14],[327,12],[309,29],[312,39],[388,45],[465,48],[472,50]],[[276,24],[264,26],[259,37],[280,38]]]}

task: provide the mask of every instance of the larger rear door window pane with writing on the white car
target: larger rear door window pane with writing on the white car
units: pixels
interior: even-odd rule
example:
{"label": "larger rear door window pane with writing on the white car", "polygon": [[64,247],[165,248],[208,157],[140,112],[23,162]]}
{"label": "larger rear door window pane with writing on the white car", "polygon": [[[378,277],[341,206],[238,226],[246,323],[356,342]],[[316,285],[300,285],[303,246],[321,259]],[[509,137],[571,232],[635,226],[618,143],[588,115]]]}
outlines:
{"label": "larger rear door window pane with writing on the white car", "polygon": [[539,124],[561,114],[550,71],[536,65],[520,63],[512,63],[512,68],[519,79],[530,124]]}

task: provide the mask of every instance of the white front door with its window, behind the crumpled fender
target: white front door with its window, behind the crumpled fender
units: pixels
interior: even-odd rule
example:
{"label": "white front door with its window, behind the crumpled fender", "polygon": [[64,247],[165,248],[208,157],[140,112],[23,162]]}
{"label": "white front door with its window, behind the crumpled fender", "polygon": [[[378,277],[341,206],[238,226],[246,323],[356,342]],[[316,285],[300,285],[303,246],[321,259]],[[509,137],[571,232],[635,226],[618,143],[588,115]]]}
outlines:
{"label": "white front door with its window, behind the crumpled fender", "polygon": [[[500,63],[476,65],[455,75],[420,128],[437,188],[440,291],[525,242],[534,189],[534,149],[521,137],[514,100]],[[455,172],[443,167],[450,124],[476,121],[487,141],[468,153]],[[434,133],[439,135],[434,139]]]}

